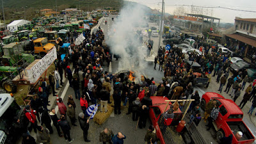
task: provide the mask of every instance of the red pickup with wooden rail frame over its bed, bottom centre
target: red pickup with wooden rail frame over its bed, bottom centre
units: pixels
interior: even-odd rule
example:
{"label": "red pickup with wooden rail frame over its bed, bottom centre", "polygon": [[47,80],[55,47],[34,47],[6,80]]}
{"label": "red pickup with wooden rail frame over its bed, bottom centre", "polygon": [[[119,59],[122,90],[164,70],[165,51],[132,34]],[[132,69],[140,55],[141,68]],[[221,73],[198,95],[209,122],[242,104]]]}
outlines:
{"label": "red pickup with wooden rail frame over its bed, bottom centre", "polygon": [[[175,115],[171,125],[166,126],[164,124],[164,117],[162,113],[165,112],[166,104],[169,103],[165,101],[168,100],[168,98],[152,96],[150,99],[152,100],[152,106],[149,108],[150,120],[156,129],[157,138],[159,138],[162,144],[205,144],[205,140],[196,128],[196,125],[193,122],[190,122],[191,119],[190,116],[188,116],[188,113],[184,114],[178,108],[177,111],[173,112]],[[172,105],[172,103],[170,102],[168,105]],[[168,111],[168,109],[170,109],[170,106],[166,110]],[[173,125],[178,125],[183,115],[185,115],[184,121],[186,122],[186,125],[182,132],[179,133],[173,130]]]}

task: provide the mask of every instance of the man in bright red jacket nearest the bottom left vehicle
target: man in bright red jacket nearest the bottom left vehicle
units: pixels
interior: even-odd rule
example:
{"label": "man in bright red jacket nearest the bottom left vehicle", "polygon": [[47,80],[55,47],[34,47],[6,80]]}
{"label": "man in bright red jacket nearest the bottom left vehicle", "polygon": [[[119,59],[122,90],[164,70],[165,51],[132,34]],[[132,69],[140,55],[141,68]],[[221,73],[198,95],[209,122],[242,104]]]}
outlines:
{"label": "man in bright red jacket nearest the bottom left vehicle", "polygon": [[32,127],[34,129],[34,131],[36,132],[36,128],[37,128],[37,121],[36,121],[36,111],[31,111],[30,106],[26,106],[25,108],[25,115],[28,118],[29,122],[31,123],[31,127],[29,127],[29,131],[32,130]]}

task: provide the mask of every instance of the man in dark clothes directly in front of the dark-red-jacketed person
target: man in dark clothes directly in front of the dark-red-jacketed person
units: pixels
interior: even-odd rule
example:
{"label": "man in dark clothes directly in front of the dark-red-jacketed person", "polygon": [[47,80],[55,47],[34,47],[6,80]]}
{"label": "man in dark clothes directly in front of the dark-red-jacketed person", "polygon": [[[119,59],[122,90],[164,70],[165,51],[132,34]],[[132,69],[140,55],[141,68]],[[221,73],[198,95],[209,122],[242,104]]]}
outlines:
{"label": "man in dark clothes directly in front of the dark-red-jacketed person", "polygon": [[68,121],[65,120],[65,116],[61,115],[60,120],[58,120],[58,124],[61,127],[61,130],[63,131],[63,135],[66,141],[69,141],[69,143],[72,143],[74,139],[70,138],[70,125],[68,124]]}

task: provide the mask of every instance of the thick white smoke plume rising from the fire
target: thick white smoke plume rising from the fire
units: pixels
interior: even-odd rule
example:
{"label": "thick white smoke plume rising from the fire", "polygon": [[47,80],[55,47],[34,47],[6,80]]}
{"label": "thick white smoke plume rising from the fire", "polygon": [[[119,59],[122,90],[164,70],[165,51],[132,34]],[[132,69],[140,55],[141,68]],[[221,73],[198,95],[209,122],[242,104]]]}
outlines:
{"label": "thick white smoke plume rising from the fire", "polygon": [[106,42],[111,52],[120,56],[118,71],[132,70],[136,71],[136,76],[141,76],[141,71],[145,68],[144,58],[148,48],[141,47],[140,35],[136,33],[141,30],[141,26],[145,26],[145,13],[145,7],[128,3],[111,26]]}

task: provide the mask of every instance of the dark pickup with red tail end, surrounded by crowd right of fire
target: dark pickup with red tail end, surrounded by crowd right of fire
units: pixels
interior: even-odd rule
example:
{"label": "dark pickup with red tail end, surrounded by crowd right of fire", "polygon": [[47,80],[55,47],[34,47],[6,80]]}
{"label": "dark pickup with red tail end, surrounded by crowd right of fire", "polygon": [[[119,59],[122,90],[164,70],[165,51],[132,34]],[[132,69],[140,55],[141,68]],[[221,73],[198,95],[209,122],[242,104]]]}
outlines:
{"label": "dark pickup with red tail end, surrounded by crowd right of fire", "polygon": [[205,86],[208,83],[208,77],[202,72],[202,67],[199,63],[195,61],[185,61],[187,70],[193,70],[193,85]]}

